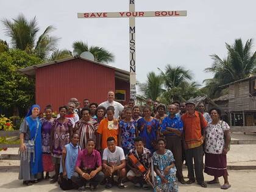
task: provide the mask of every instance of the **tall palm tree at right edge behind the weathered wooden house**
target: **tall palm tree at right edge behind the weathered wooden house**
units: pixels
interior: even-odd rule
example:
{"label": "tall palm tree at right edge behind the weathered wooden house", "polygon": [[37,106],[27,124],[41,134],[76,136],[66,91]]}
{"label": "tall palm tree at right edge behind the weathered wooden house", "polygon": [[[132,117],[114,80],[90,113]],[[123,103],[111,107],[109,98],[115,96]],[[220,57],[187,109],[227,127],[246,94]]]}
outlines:
{"label": "tall palm tree at right edge behind the weathered wooden house", "polygon": [[213,73],[213,79],[206,79],[204,91],[211,98],[221,95],[220,85],[243,79],[256,72],[256,51],[252,51],[252,39],[243,44],[241,38],[236,39],[233,45],[226,43],[227,58],[221,59],[218,55],[210,55],[213,64],[205,71]]}

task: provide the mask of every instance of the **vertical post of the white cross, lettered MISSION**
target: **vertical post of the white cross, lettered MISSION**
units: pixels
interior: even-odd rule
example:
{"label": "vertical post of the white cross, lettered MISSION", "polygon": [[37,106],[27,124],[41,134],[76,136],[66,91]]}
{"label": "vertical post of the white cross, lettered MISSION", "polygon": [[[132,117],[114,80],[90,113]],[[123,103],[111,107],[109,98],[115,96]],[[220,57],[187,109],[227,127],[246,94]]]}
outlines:
{"label": "vertical post of the white cross, lettered MISSION", "polygon": [[[129,1],[129,12],[135,12],[135,0]],[[130,53],[130,99],[136,99],[136,48],[135,48],[135,17],[129,18],[129,53]]]}

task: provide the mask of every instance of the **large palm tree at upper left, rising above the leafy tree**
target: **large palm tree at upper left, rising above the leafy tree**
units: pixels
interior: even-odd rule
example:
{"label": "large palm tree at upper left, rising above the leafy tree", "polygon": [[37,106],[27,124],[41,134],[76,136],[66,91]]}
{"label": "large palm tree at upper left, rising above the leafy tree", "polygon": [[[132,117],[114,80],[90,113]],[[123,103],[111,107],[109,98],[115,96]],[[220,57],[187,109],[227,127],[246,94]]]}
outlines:
{"label": "large palm tree at upper left, rising above the leafy tree", "polygon": [[21,49],[28,53],[34,53],[41,59],[46,57],[57,49],[57,38],[51,37],[49,34],[54,30],[53,26],[48,26],[38,39],[39,27],[34,17],[28,21],[24,15],[18,15],[16,19],[2,20],[5,26],[5,35],[10,37],[12,48]]}

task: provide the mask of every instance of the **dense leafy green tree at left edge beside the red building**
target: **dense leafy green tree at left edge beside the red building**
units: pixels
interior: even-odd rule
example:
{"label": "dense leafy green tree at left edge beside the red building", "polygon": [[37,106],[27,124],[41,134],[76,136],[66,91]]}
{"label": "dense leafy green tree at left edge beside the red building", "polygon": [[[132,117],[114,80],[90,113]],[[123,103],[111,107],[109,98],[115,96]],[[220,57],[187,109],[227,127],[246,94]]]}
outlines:
{"label": "dense leafy green tree at left edge beside the red building", "polygon": [[19,49],[0,53],[0,106],[26,108],[35,102],[35,81],[16,70],[43,62]]}

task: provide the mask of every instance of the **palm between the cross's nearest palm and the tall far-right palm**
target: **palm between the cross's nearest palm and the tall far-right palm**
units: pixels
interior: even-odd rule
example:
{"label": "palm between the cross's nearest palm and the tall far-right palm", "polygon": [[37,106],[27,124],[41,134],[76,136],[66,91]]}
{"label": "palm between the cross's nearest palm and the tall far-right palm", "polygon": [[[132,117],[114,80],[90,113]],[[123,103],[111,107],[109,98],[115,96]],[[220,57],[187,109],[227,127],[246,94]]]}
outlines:
{"label": "palm between the cross's nearest palm and the tall far-right palm", "polygon": [[161,76],[167,89],[179,87],[183,82],[192,79],[191,71],[182,66],[174,67],[168,64],[165,66],[165,72],[161,69],[159,70],[161,71]]}

